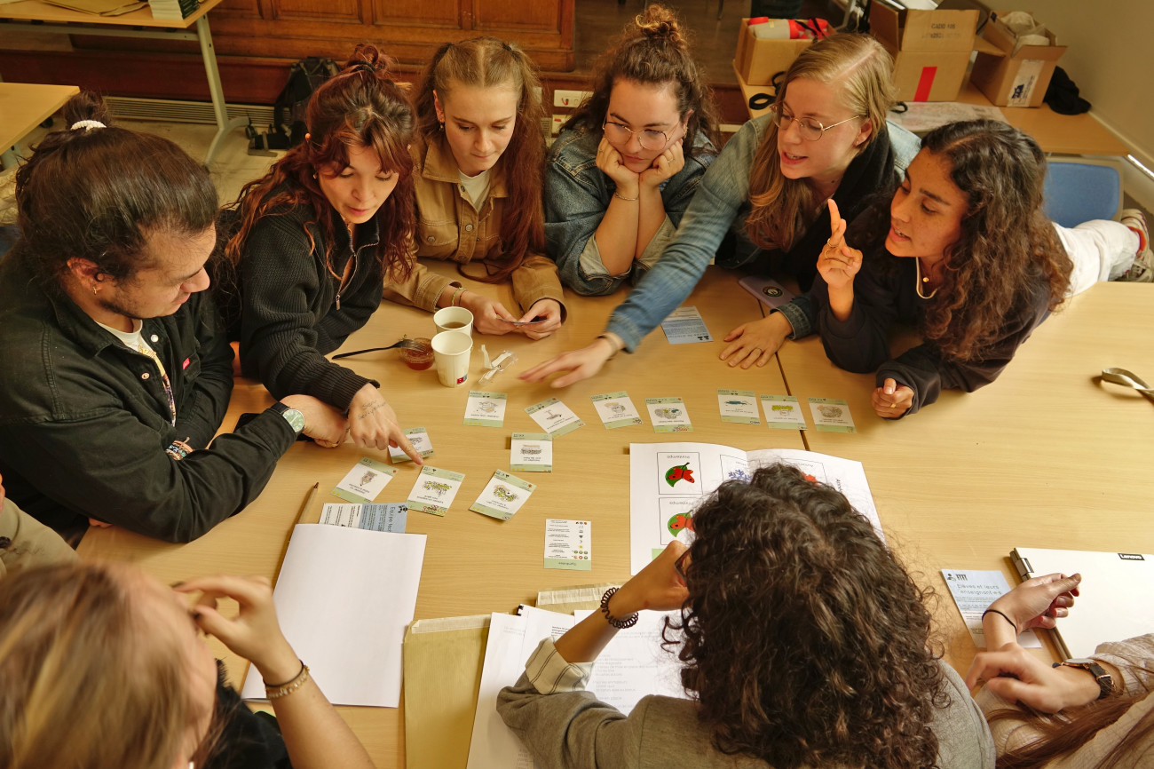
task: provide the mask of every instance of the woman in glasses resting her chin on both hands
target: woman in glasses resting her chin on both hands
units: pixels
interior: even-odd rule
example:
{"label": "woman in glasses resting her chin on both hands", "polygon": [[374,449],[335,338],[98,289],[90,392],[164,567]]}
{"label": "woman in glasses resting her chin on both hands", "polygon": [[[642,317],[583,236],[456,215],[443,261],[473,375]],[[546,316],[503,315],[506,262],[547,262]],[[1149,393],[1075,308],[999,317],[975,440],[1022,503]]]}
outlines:
{"label": "woman in glasses resting her chin on both hands", "polygon": [[715,156],[717,119],[677,17],[650,6],[604,57],[545,177],[545,237],[562,282],[612,293],[657,262]]}

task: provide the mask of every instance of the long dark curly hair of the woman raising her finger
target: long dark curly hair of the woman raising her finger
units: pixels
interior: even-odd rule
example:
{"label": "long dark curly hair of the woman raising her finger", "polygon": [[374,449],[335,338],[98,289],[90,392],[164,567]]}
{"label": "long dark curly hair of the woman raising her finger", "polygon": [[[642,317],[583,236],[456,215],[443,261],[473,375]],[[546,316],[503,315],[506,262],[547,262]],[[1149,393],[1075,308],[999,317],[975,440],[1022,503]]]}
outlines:
{"label": "long dark curly hair of the woman raising her finger", "polygon": [[[946,249],[942,286],[927,304],[922,336],[946,358],[981,360],[1005,316],[1040,282],[1050,309],[1070,286],[1073,262],[1042,211],[1046,155],[1029,134],[996,120],[935,128],[922,139],[922,151],[949,163],[950,179],[968,201],[961,237]],[[886,200],[863,219],[867,245],[881,244],[889,226]]]}

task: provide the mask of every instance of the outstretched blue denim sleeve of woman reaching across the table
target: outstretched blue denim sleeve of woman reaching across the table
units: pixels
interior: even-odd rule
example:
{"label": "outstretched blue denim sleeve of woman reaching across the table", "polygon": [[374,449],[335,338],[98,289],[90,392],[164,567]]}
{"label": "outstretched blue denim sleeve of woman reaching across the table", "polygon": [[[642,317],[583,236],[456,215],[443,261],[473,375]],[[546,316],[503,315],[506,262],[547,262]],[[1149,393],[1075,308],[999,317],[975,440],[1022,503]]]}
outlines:
{"label": "outstretched blue denim sleeve of woman reaching across the table", "polygon": [[749,169],[766,118],[750,120],[702,176],[677,234],[614,311],[606,330],[632,352],[692,292],[749,195]]}

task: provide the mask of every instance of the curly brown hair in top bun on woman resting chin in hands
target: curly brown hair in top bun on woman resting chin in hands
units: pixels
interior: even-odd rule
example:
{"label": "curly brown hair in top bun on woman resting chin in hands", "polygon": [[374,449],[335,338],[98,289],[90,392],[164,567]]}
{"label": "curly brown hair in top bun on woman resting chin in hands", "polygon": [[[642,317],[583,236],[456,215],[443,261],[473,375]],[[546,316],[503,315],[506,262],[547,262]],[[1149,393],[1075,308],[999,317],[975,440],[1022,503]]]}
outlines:
{"label": "curly brown hair in top bun on woman resting chin in hands", "polygon": [[687,30],[668,8],[652,5],[625,28],[617,44],[601,57],[593,77],[593,95],[577,107],[564,129],[600,132],[609,110],[609,95],[617,80],[673,84],[679,117],[684,119],[687,112],[694,111],[682,144],[685,157],[699,151],[699,133],[704,133],[713,147],[720,147],[713,92],[702,81],[697,64],[690,55]]}

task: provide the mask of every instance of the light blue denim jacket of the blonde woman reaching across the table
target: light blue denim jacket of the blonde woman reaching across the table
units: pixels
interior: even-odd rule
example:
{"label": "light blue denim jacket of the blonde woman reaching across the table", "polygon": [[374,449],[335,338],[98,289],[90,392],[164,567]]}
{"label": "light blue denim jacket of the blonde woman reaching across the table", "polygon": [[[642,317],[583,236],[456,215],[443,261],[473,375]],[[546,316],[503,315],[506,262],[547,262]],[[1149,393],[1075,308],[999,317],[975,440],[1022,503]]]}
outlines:
{"label": "light blue denim jacket of the blonde woman reaching across the table", "polygon": [[[726,260],[724,267],[750,263],[758,257],[759,249],[745,236],[745,218],[750,211],[749,170],[769,130],[770,119],[771,115],[765,114],[748,121],[726,143],[702,177],[697,194],[661,257],[613,312],[606,330],[620,336],[627,350],[635,350],[646,334],[689,297],[727,233],[733,233],[736,244],[734,255]],[[900,173],[917,154],[919,140],[892,124],[889,125],[889,134],[894,167]],[[834,199],[838,196],[834,195]],[[841,200],[838,202],[844,203]],[[824,217],[829,226],[829,214]],[[820,222],[822,218],[814,226],[820,226]],[[790,322],[796,316],[796,336],[811,334],[816,312],[805,297],[795,301],[804,307],[787,312],[786,316]],[[799,328],[799,324],[804,328]]]}

